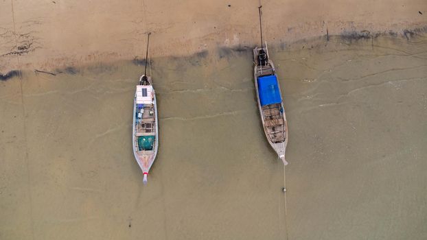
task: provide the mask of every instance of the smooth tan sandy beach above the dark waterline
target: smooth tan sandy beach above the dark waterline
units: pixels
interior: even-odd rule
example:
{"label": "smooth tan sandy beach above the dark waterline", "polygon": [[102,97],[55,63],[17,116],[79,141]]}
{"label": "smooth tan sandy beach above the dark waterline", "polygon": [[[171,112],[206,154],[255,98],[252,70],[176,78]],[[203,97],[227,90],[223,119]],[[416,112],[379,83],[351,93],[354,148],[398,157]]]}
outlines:
{"label": "smooth tan sandy beach above the dark waterline", "polygon": [[[189,56],[259,43],[259,1],[1,1],[0,73],[90,62]],[[284,45],[355,32],[426,32],[424,0],[262,1],[264,36]],[[424,12],[420,14],[419,12]]]}

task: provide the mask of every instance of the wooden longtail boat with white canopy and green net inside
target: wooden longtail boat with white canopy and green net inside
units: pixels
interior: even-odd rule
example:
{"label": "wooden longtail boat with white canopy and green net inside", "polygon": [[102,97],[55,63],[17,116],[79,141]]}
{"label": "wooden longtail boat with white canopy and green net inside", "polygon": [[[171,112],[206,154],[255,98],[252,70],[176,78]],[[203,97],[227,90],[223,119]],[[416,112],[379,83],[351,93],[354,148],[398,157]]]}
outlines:
{"label": "wooden longtail boat with white canopy and green net inside", "polygon": [[[148,34],[148,39],[150,39],[150,34]],[[154,163],[159,148],[156,93],[152,86],[151,77],[146,74],[139,78],[135,92],[132,126],[133,154],[143,172],[143,183],[146,184],[148,172]]]}

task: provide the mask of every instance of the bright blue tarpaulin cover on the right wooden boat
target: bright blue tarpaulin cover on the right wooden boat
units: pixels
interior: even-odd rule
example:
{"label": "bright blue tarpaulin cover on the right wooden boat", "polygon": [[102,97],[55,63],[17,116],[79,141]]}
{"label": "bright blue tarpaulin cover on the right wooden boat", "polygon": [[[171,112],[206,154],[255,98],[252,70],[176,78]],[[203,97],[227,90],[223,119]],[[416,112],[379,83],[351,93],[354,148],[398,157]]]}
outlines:
{"label": "bright blue tarpaulin cover on the right wooden boat", "polygon": [[279,85],[276,75],[258,77],[258,95],[261,106],[281,103]]}

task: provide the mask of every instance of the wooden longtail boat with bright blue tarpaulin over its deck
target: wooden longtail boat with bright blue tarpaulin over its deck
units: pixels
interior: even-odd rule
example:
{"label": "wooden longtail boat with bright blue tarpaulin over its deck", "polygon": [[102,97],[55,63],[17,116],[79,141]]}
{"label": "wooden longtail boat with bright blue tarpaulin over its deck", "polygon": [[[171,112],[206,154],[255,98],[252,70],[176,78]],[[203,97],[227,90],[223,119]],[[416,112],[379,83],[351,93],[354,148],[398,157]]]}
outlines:
{"label": "wooden longtail boat with bright blue tarpaulin over its deck", "polygon": [[[259,7],[259,26],[261,27],[261,7]],[[264,132],[268,143],[273,147],[284,165],[288,165],[285,160],[286,145],[288,144],[288,123],[275,66],[268,56],[267,43],[265,47],[261,45],[261,47],[253,49],[253,62],[255,63],[253,68],[255,91]]]}

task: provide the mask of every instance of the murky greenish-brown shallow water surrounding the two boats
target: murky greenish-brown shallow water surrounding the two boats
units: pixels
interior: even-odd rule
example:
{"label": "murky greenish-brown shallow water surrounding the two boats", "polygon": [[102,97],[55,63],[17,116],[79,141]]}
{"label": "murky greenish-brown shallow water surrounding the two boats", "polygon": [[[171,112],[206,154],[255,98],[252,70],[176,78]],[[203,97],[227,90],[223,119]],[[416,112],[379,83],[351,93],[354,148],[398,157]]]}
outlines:
{"label": "murky greenish-brown shallow water surrounding the two boats", "polygon": [[270,46],[289,124],[262,132],[251,49],[152,61],[160,145],[132,155],[132,62],[0,82],[0,239],[424,239],[427,39]]}

